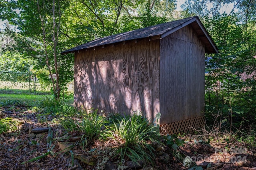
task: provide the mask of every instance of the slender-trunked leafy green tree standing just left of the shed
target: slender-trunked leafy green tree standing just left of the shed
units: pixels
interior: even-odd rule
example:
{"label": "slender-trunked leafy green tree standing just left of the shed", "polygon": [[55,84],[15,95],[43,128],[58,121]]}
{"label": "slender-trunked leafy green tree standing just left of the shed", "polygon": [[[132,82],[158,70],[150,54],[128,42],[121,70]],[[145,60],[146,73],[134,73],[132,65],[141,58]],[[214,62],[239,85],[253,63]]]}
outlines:
{"label": "slender-trunked leafy green tree standing just left of the shed", "polygon": [[[61,89],[72,77],[70,74],[72,59],[66,59],[68,63],[60,60],[60,51],[64,47],[59,45],[62,25],[65,24],[62,21],[62,14],[69,4],[62,0],[17,0],[9,4],[20,11],[10,19],[10,22],[17,25],[19,30],[19,32],[10,31],[9,35],[12,35],[16,42],[12,48],[15,47],[24,54],[24,57],[30,56],[37,59],[37,69],[48,70],[52,91],[56,99],[59,99]],[[62,74],[64,76],[70,75],[65,77],[64,81],[60,81],[61,71],[66,71],[66,74]]]}

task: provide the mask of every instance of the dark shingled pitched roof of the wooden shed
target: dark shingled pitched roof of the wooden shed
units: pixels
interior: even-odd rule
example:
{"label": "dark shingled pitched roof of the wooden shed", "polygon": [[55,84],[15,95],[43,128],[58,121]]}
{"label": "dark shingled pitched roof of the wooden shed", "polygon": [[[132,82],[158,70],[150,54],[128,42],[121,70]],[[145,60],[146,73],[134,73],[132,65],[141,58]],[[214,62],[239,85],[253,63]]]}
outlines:
{"label": "dark shingled pitched roof of the wooden shed", "polygon": [[161,39],[187,25],[191,25],[192,28],[194,28],[194,30],[196,31],[198,38],[202,40],[202,42],[204,42],[206,53],[218,53],[218,49],[215,43],[212,41],[212,38],[209,36],[202,22],[199,20],[198,16],[193,16],[181,20],[158,24],[156,26],[149,26],[138,30],[133,30],[104,38],[99,38],[91,42],[78,45],[77,47],[68,49],[66,51],[62,51],[61,54],[72,53],[81,49],[87,49],[99,45],[107,45],[141,38],[151,37],[154,39]]}

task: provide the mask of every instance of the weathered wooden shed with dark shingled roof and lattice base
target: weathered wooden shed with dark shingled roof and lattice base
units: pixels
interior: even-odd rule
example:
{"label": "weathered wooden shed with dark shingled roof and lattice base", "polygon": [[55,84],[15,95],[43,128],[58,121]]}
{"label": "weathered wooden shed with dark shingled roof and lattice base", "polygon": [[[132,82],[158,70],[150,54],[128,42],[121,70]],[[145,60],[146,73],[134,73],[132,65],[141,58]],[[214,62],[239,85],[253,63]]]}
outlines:
{"label": "weathered wooden shed with dark shingled roof and lattice base", "polygon": [[204,123],[204,55],[217,53],[197,16],[100,38],[75,53],[74,105],[106,113],[136,112],[162,134]]}

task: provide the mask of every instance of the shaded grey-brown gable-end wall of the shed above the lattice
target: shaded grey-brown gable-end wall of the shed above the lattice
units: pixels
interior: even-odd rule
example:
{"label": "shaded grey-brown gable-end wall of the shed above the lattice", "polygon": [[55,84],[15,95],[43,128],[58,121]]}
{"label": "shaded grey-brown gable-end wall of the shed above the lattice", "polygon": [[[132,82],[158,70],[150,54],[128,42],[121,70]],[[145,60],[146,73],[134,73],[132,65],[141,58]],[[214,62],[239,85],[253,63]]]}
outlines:
{"label": "shaded grey-brown gable-end wall of the shed above the lattice", "polygon": [[160,40],[160,124],[203,116],[204,44],[191,26]]}

